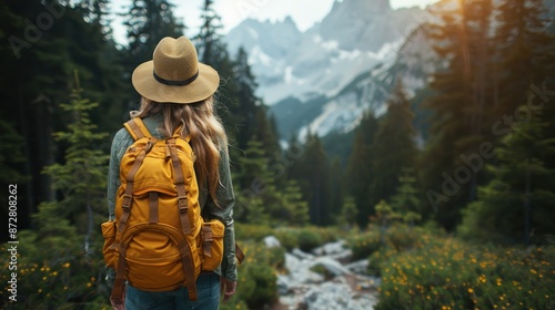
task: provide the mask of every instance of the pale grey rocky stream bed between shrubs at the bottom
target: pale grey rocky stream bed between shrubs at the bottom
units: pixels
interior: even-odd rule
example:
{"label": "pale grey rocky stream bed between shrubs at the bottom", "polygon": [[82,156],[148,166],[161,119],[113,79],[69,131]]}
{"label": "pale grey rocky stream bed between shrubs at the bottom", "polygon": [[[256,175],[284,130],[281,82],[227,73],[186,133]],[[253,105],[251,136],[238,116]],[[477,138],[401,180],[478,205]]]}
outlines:
{"label": "pale grey rocky stream bed between shrubs at the bottom", "polygon": [[300,249],[285,254],[287,273],[278,276],[279,309],[374,309],[381,281],[365,275],[366,259],[351,262],[352,251],[344,246],[339,240],[312,254]]}

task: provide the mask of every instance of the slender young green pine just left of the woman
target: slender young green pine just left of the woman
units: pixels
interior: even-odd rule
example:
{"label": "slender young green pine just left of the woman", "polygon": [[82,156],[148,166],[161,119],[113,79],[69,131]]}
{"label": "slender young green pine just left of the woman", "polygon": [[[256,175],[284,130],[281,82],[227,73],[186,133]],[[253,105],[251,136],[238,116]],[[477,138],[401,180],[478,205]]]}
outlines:
{"label": "slender young green pine just left of the woman", "polygon": [[[59,198],[39,207],[36,219],[40,236],[58,235],[57,219],[65,218],[77,224],[77,231],[84,236],[85,254],[92,254],[93,235],[97,230],[97,215],[105,213],[103,206],[108,155],[95,146],[107,138],[104,133],[94,133],[97,125],[90,120],[90,111],[98,103],[82,97],[82,89],[75,72],[75,87],[69,104],[60,107],[71,114],[72,122],[67,132],[54,134],[58,142],[68,144],[63,164],[53,164],[44,168],[44,174],[52,177],[52,190]],[[52,214],[57,213],[56,217]],[[73,229],[69,228],[68,229]]]}

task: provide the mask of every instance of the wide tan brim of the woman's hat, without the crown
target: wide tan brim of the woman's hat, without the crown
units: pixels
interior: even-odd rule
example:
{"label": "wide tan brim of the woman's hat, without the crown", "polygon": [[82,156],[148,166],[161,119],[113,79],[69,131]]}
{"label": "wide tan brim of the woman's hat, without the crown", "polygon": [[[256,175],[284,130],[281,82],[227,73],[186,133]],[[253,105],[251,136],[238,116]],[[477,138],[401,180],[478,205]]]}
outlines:
{"label": "wide tan brim of the woman's hat, without the crown", "polygon": [[199,62],[199,76],[190,84],[165,85],[154,79],[154,62],[141,63],[134,71],[131,82],[135,91],[155,102],[194,103],[210,97],[220,85],[220,75],[210,65]]}

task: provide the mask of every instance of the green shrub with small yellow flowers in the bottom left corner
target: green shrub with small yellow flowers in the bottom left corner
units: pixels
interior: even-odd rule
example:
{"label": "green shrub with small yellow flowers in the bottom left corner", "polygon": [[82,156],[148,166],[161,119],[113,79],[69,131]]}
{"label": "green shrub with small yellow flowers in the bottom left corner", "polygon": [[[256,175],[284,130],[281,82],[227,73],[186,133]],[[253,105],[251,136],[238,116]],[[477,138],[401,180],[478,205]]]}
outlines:
{"label": "green shrub with small yellow flowers in the bottom left corner", "polygon": [[[47,248],[44,241],[31,230],[18,235],[17,270],[10,270],[8,260],[0,271],[2,282],[1,309],[74,309],[77,303],[87,303],[97,309],[109,309],[104,281],[99,279],[103,270],[100,249],[94,245],[93,256],[87,258],[79,244],[71,248],[53,246]],[[50,241],[52,238],[50,238]],[[0,244],[0,251],[9,254],[11,245]],[[56,257],[59,255],[59,257]],[[17,272],[17,302],[10,302],[8,291],[11,272]],[[83,308],[84,309],[84,308]]]}

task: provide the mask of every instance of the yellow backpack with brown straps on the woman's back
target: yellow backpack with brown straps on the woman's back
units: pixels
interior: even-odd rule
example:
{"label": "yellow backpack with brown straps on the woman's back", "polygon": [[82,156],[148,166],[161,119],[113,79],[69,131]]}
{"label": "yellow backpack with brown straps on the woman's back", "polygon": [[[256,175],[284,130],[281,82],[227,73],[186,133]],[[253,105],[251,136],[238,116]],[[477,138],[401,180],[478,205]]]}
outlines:
{"label": "yellow backpack with brown straps on the woman's back", "polygon": [[145,291],[185,286],[196,300],[201,270],[222,262],[224,225],[201,216],[189,137],[157,140],[139,117],[124,126],[134,143],[120,163],[115,220],[102,224],[104,260],[117,270],[111,300],[123,302],[125,280]]}

